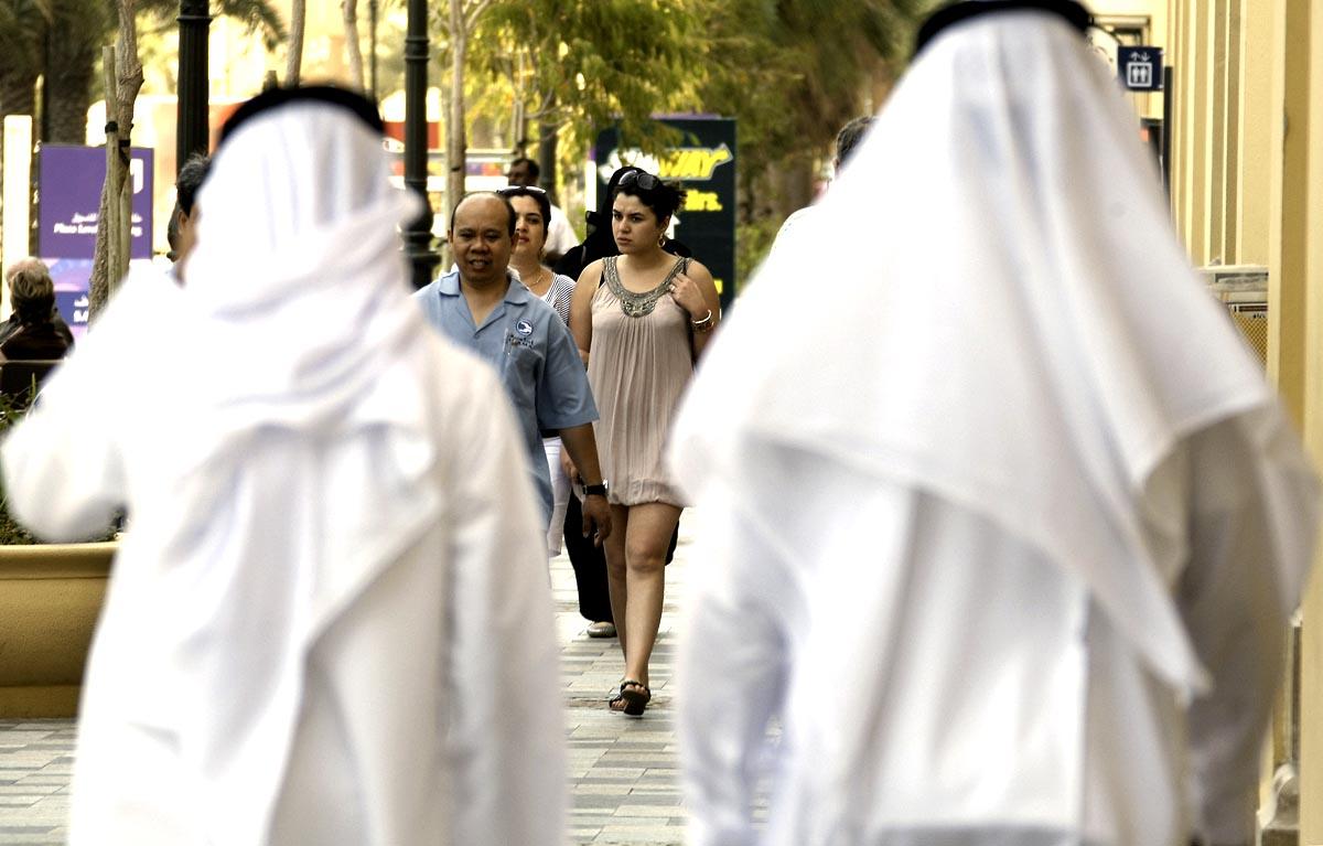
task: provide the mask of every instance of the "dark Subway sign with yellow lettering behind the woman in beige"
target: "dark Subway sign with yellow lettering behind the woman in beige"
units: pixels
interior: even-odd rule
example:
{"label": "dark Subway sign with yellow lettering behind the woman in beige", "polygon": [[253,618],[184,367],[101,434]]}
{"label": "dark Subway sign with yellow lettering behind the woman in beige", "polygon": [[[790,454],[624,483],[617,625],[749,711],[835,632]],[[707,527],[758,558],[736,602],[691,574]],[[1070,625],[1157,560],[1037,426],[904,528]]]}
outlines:
{"label": "dark Subway sign with yellow lettering behind the woman in beige", "polygon": [[[611,173],[624,164],[642,167],[685,189],[671,236],[706,265],[721,294],[721,307],[736,295],[736,122],[730,118],[662,118],[685,134],[664,156],[623,148],[619,134],[606,130],[593,148],[595,196],[606,192]],[[589,199],[589,208],[597,201]]]}

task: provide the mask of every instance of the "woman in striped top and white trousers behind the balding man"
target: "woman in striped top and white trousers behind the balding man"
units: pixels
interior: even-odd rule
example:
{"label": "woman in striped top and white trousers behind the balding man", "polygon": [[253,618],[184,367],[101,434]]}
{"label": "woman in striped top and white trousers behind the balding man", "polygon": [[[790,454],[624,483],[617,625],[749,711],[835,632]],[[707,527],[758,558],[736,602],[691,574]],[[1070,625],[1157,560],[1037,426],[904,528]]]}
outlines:
{"label": "woman in striped top and white trousers behind the balding man", "polygon": [[[561,320],[569,326],[574,279],[554,273],[544,263],[546,224],[552,218],[550,197],[533,185],[511,185],[496,193],[509,200],[511,208],[515,209],[515,249],[509,257],[509,266],[519,273],[524,287],[554,308]],[[570,481],[561,466],[560,436],[544,437],[542,447],[546,450],[546,465],[552,471],[552,522],[546,527],[546,555],[554,557],[561,553]]]}

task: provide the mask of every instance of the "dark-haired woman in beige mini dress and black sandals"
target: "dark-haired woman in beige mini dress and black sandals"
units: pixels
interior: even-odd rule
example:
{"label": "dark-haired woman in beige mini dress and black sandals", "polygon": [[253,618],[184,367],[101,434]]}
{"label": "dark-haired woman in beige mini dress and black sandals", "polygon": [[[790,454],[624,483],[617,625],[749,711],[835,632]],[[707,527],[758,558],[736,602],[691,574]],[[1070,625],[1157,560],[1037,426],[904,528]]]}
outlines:
{"label": "dark-haired woman in beige mini dress and black sandals", "polygon": [[662,624],[665,553],[680,519],[679,491],[662,447],[684,385],[720,305],[712,274],[662,245],[684,192],[644,171],[626,173],[611,197],[619,256],[583,269],[570,328],[587,363],[607,500],[619,527],[605,541],[611,612],[624,653],[613,711],[642,715],[652,698],[648,659]]}

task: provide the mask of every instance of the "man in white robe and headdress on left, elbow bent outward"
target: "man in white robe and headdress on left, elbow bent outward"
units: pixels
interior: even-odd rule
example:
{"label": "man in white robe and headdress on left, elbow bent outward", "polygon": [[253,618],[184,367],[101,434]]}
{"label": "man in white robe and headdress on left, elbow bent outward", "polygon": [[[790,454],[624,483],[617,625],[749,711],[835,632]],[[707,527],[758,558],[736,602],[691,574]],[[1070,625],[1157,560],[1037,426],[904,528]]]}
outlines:
{"label": "man in white robe and headdress on left, elbow bent outward", "polygon": [[409,299],[374,107],[224,130],[188,286],[131,278],[4,446],[52,539],[126,503],[74,845],[560,843],[542,526],[490,368]]}

